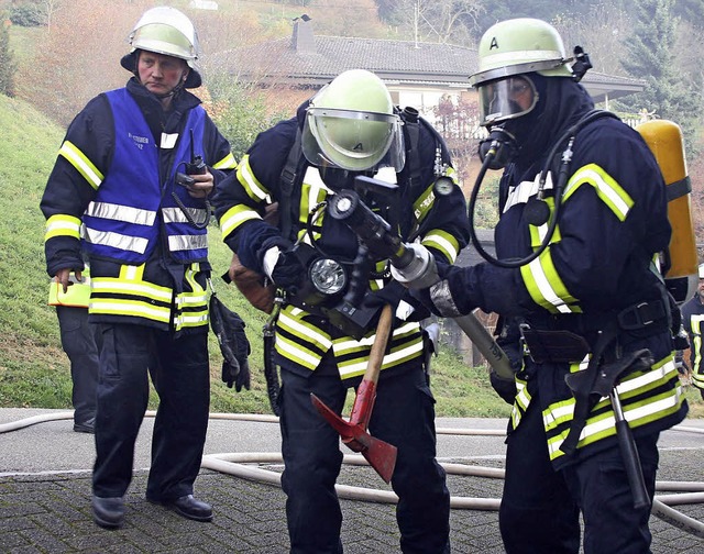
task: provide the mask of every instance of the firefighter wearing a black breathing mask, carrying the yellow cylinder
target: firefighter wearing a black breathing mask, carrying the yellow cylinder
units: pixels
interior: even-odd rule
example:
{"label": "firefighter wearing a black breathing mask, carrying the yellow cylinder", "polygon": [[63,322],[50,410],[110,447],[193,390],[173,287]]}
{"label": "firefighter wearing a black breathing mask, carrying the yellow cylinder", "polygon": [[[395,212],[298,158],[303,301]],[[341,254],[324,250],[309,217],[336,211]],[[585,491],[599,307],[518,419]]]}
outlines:
{"label": "firefighter wearing a black breathing mask, carrying the yellow cylinder", "polygon": [[[493,378],[513,403],[506,552],[578,553],[580,512],[586,554],[649,552],[658,435],[688,411],[653,264],[671,234],[660,169],[636,131],[593,112],[578,82],[585,60],[570,64],[551,25],[499,22],[479,54],[481,155],[505,167],[498,259],[439,266],[440,280],[416,293],[442,317],[498,313],[498,341],[517,353],[515,379]],[[622,413],[637,457],[619,450]],[[625,459],[639,462],[641,487]]]}

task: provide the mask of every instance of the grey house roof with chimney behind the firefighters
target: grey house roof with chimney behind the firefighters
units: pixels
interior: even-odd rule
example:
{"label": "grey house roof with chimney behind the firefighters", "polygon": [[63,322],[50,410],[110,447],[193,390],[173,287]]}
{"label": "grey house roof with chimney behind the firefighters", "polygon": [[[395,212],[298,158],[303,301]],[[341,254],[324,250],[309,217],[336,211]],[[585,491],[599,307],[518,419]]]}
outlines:
{"label": "grey house roof with chimney behind the firefighters", "polygon": [[[469,90],[479,66],[474,48],[439,43],[314,35],[298,19],[290,38],[279,38],[217,56],[231,74],[257,82],[318,88],[346,69],[369,69],[387,85]],[[642,81],[590,71],[583,78],[596,102],[639,92]]]}

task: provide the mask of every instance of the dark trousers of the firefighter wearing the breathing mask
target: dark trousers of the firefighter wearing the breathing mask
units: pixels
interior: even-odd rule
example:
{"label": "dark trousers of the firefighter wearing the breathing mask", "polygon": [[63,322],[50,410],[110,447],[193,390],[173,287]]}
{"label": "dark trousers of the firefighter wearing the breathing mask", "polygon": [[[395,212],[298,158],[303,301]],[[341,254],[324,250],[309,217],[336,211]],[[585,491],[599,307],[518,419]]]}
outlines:
{"label": "dark trousers of the firefighter wearing the breathing mask", "polygon": [[[652,499],[659,433],[636,439]],[[650,552],[650,508],[636,510],[618,445],[556,472],[550,463],[539,402],[534,398],[508,436],[499,528],[507,554],[576,554],[580,511],[584,554]]]}

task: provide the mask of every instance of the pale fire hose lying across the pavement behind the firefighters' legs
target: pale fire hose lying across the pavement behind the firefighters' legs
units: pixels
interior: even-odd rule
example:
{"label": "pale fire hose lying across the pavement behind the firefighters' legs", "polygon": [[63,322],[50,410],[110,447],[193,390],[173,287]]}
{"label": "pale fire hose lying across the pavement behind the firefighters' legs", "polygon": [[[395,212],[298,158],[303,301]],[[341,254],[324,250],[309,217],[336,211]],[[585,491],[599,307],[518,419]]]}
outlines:
{"label": "pale fire hose lying across the pavement behind the firefighters' legs", "polygon": [[[153,418],[155,411],[150,410],[146,417]],[[33,416],[10,423],[0,424],[0,434],[28,428],[47,421],[73,419],[74,412],[55,412],[42,416]],[[235,421],[258,421],[266,423],[277,423],[278,418],[267,414],[248,413],[211,413],[210,419],[235,420]],[[704,429],[694,426],[675,425],[671,430],[693,433],[704,433]],[[453,435],[493,435],[503,436],[506,433],[494,429],[453,429],[438,428],[438,434]],[[267,485],[280,487],[280,474],[261,467],[253,467],[245,464],[282,464],[283,456],[277,452],[249,452],[249,453],[224,453],[209,454],[202,457],[201,467],[215,472],[232,475],[242,479],[253,480]],[[363,456],[359,454],[348,454],[343,456],[343,463],[349,465],[369,465]],[[440,465],[450,475],[464,475],[475,477],[488,477],[503,479],[505,472],[495,467],[472,466],[465,464],[446,463],[439,461]],[[353,487],[349,485],[336,485],[338,496],[348,500],[361,500],[378,503],[396,503],[398,497],[391,490],[370,489],[364,487]],[[652,502],[651,513],[670,523],[671,525],[704,539],[704,523],[685,516],[670,506],[690,505],[704,502],[704,483],[697,481],[657,481],[656,490],[682,491],[679,495],[657,495]],[[497,511],[501,505],[498,498],[472,498],[451,497],[450,507],[458,510],[490,510]]]}

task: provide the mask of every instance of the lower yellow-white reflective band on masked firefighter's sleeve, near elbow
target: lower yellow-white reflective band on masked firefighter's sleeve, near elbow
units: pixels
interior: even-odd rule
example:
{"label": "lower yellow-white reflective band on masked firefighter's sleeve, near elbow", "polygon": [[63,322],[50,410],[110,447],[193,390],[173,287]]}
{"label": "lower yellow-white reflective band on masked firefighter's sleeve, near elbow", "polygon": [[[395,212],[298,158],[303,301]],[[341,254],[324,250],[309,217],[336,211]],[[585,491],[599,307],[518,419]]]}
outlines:
{"label": "lower yellow-white reflective band on masked firefighter's sleeve, near elbow", "polygon": [[566,289],[552,262],[550,247],[527,265],[520,275],[532,300],[551,313],[581,312],[579,306],[570,306],[576,299]]}

